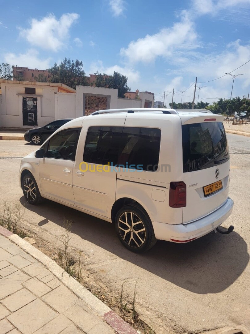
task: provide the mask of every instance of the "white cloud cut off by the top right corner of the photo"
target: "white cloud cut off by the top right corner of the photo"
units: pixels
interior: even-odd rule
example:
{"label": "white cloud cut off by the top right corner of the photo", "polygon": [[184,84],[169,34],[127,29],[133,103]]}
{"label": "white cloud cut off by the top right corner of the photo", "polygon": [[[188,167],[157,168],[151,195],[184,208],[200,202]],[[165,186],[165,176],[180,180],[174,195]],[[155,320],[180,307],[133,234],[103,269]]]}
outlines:
{"label": "white cloud cut off by the top right corner of the photo", "polygon": [[193,0],[193,9],[199,14],[217,14],[221,9],[249,4],[250,0]]}

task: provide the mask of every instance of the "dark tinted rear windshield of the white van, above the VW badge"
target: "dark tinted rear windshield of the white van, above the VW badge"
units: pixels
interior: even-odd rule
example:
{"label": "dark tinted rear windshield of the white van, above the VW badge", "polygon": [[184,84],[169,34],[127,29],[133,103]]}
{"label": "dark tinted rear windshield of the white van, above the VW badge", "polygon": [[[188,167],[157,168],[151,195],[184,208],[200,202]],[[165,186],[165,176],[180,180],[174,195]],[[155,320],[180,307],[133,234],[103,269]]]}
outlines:
{"label": "dark tinted rear windshield of the white van, above the VW badge", "polygon": [[182,125],[183,173],[219,165],[229,159],[221,122]]}

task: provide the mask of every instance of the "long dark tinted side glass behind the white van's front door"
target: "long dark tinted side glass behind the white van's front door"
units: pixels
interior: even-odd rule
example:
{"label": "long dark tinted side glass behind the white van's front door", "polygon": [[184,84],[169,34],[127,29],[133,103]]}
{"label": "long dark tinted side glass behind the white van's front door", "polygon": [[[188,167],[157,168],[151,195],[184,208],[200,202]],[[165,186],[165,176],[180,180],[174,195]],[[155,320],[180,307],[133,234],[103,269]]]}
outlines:
{"label": "long dark tinted side glass behind the white van's front door", "polygon": [[140,127],[90,127],[83,161],[156,171],[161,130]]}

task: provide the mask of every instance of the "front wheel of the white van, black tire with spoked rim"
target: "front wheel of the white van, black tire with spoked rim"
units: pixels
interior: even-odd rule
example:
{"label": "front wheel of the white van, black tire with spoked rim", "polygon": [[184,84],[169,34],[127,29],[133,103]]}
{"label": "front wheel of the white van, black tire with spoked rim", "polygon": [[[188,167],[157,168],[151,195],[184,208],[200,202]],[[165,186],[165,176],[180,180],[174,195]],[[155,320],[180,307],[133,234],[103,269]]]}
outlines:
{"label": "front wheel of the white van, black tire with spoked rim", "polygon": [[24,175],[22,179],[22,189],[26,201],[32,205],[40,204],[43,197],[40,194],[36,180],[31,173]]}

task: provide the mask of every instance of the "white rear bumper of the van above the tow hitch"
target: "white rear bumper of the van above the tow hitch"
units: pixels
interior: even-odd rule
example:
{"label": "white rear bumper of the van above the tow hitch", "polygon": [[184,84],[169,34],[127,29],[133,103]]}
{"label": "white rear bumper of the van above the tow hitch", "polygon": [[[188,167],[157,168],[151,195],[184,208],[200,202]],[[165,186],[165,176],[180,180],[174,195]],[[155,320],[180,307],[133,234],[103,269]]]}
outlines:
{"label": "white rear bumper of the van above the tow hitch", "polygon": [[[172,242],[188,242],[213,231],[220,226],[231,214],[234,202],[228,197],[224,205],[204,218],[188,224],[165,224],[152,222],[155,237]],[[176,241],[174,241],[176,240]]]}

